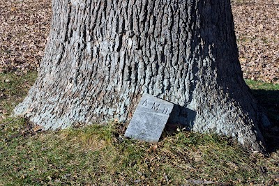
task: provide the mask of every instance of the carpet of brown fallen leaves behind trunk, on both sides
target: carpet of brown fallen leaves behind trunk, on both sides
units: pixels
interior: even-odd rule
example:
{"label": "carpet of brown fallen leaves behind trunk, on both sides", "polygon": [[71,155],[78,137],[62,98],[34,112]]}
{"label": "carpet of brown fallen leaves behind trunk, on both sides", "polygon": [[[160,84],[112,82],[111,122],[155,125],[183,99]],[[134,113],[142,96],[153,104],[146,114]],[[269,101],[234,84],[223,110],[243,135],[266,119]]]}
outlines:
{"label": "carpet of brown fallen leaves behind trunk, on both sides", "polygon": [[[246,79],[279,84],[279,0],[232,1]],[[35,70],[50,28],[50,0],[0,0],[0,72]]]}

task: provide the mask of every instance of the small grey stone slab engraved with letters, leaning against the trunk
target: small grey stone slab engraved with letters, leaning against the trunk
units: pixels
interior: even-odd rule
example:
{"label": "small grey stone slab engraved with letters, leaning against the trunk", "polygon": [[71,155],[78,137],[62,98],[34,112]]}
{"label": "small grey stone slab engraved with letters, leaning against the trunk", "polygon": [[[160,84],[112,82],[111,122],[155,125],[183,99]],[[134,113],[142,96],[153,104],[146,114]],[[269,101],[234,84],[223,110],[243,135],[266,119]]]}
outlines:
{"label": "small grey stone slab engraved with letters, leaning against the trunk", "polygon": [[125,137],[156,143],[159,141],[174,104],[144,93],[137,105]]}

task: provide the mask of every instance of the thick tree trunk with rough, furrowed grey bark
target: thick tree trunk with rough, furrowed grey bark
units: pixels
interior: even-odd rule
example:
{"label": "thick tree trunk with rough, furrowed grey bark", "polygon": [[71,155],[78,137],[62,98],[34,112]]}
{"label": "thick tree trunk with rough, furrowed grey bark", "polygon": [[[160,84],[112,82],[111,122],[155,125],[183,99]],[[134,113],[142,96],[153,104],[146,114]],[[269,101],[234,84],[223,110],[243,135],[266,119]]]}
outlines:
{"label": "thick tree trunk with rough, furrowed grey bark", "polygon": [[45,129],[129,121],[142,93],[172,123],[264,151],[269,125],[243,81],[229,0],[52,0],[38,79],[15,108]]}

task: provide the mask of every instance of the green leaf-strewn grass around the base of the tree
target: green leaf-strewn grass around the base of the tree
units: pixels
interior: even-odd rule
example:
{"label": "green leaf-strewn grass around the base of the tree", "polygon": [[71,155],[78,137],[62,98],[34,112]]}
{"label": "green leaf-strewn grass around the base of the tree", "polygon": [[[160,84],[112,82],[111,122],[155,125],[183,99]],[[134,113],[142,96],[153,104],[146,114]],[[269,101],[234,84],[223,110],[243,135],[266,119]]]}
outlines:
{"label": "green leaf-strewn grass around the base of the tree", "polygon": [[[9,114],[36,73],[0,77],[0,105],[10,103],[4,107]],[[264,100],[272,97],[264,93],[279,91],[273,84],[247,84]],[[0,121],[0,185],[279,185],[278,151],[249,154],[229,139],[181,130],[148,144],[125,139],[119,123],[40,132],[7,114]]]}

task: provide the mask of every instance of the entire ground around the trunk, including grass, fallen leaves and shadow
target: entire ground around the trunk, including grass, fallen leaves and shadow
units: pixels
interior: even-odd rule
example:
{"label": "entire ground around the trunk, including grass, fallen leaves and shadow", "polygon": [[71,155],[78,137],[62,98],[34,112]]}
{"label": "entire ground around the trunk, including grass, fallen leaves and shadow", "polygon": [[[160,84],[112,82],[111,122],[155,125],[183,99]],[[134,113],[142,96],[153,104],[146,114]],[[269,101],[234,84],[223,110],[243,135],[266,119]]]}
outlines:
{"label": "entire ground around the trunk, including grass, fallen leaves and shadow", "polygon": [[279,1],[234,0],[232,10],[243,76],[274,123],[269,157],[183,129],[147,144],[119,123],[42,132],[10,117],[36,79],[52,10],[50,0],[0,0],[0,185],[279,185]]}

